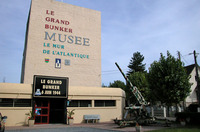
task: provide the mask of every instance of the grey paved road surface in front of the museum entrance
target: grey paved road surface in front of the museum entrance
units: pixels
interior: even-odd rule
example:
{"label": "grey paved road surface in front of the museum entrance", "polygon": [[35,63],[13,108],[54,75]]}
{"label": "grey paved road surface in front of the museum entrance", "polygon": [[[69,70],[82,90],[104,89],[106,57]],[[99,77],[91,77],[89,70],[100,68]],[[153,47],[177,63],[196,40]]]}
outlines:
{"label": "grey paved road surface in front of the museum entrance", "polygon": [[5,132],[119,132],[114,130],[105,130],[89,127],[66,127],[66,128],[41,128],[41,129],[21,129],[6,130]]}

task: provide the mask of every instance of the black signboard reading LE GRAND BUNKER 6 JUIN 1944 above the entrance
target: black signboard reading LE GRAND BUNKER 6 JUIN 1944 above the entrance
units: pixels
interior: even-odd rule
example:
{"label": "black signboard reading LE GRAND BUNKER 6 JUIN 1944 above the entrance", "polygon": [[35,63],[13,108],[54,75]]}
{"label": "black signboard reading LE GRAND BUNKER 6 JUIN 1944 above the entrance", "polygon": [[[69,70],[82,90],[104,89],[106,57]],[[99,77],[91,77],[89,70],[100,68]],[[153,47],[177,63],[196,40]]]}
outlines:
{"label": "black signboard reading LE GRAND BUNKER 6 JUIN 1944 above the entrance", "polygon": [[35,75],[33,97],[67,98],[68,78]]}

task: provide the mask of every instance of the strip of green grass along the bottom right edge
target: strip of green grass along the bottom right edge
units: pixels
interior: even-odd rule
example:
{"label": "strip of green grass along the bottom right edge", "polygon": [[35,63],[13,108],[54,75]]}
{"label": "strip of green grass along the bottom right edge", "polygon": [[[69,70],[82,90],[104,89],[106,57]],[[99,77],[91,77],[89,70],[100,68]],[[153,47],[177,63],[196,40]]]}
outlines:
{"label": "strip of green grass along the bottom right edge", "polygon": [[167,128],[151,132],[200,132],[200,128]]}

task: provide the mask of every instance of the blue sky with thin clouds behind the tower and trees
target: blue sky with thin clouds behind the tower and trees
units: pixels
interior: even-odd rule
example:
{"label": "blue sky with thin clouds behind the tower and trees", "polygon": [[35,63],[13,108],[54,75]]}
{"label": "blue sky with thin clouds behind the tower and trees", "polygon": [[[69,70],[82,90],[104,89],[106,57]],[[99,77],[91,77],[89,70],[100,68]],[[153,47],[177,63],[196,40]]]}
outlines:
{"label": "blue sky with thin clouds behind the tower and trees", "polygon": [[[185,65],[200,53],[199,0],[57,0],[101,12],[102,83],[124,81],[123,71],[134,52],[144,57],[146,69],[153,61],[181,52]],[[0,82],[19,83],[26,22],[31,0],[0,1]],[[200,55],[197,57],[200,63]]]}

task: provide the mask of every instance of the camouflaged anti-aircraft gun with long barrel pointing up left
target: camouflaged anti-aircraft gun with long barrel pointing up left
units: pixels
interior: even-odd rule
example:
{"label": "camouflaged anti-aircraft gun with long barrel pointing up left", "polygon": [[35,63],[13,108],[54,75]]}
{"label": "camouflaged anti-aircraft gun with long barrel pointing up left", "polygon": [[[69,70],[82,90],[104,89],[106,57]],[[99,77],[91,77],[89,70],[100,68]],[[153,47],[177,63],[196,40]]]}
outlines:
{"label": "camouflaged anti-aircraft gun with long barrel pointing up left", "polygon": [[[128,79],[128,77],[122,72],[121,68],[119,67],[119,65],[115,62],[117,68],[119,69],[119,71],[121,72],[121,74],[123,75],[123,77],[125,78],[126,82],[130,85],[130,90],[133,93],[133,95],[136,97],[139,106],[138,105],[130,105],[129,107],[125,107],[125,115],[124,118],[122,120],[115,120],[115,123],[118,124],[120,127],[125,127],[127,125],[130,124],[151,124],[153,123],[153,118],[149,116],[149,114],[147,113],[147,110],[145,108],[145,106],[147,106],[147,102],[145,101],[144,97],[142,96],[142,94],[140,93],[140,91],[138,90],[138,88],[136,86],[133,86],[133,84],[131,83],[131,81]],[[129,117],[129,119],[127,118],[128,113],[130,113],[130,111],[132,111],[133,113],[133,117]]]}

